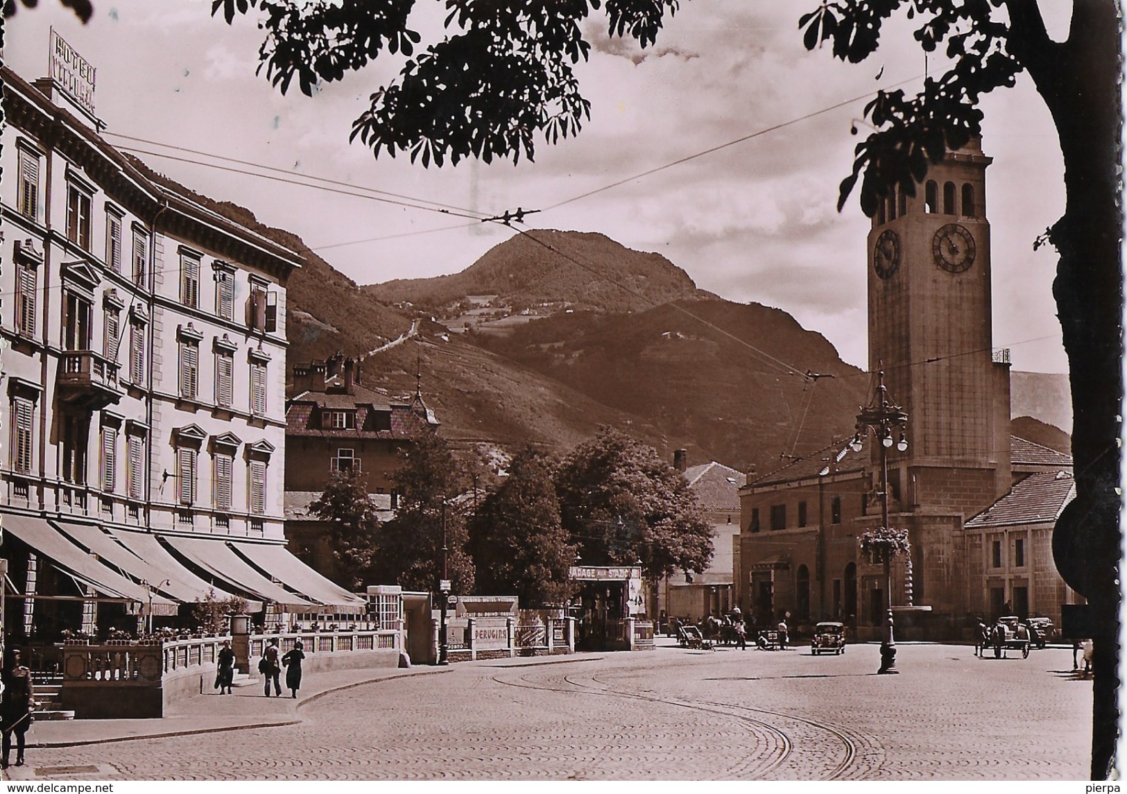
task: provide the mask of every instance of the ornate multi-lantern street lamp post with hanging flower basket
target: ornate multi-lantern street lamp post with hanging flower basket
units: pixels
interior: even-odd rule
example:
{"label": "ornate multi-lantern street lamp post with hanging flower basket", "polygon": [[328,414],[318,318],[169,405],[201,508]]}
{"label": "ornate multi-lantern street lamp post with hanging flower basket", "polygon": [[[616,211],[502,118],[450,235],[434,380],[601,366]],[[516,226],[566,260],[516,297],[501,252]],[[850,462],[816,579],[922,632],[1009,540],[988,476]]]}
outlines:
{"label": "ornate multi-lantern street lamp post with hanging flower basket", "polygon": [[[877,373],[877,394],[868,408],[862,408],[857,417],[857,434],[850,441],[853,452],[861,452],[866,430],[872,430],[880,443],[880,527],[876,533],[867,534],[864,539],[870,544],[872,557],[880,556],[885,565],[885,633],[880,642],[880,673],[895,673],[896,640],[893,632],[893,555],[900,548],[902,533],[888,526],[888,450],[895,444],[899,452],[908,448],[905,436],[905,425],[908,417],[900,407],[888,399],[885,386],[884,365]],[[898,438],[894,438],[898,436]]]}

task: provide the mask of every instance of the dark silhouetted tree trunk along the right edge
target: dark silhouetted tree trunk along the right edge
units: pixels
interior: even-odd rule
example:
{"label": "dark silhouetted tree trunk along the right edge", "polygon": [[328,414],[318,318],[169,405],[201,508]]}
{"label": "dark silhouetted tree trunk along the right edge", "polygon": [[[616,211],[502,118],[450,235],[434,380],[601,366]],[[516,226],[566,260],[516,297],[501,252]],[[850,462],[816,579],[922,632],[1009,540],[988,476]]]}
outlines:
{"label": "dark silhouetted tree trunk along the right edge", "polygon": [[1076,499],[1057,521],[1053,554],[1065,581],[1088,599],[1095,626],[1091,774],[1104,779],[1115,758],[1119,688],[1119,27],[1110,0],[1074,9],[1068,42],[1027,66],[1056,122],[1065,164],[1065,214],[1049,239],[1061,253],[1053,294],[1068,356]]}

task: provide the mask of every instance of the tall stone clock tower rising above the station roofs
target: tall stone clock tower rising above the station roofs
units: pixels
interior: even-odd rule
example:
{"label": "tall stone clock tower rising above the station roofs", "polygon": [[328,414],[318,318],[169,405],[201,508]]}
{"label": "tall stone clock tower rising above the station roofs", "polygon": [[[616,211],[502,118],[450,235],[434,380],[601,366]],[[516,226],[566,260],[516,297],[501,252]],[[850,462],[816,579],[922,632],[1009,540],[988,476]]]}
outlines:
{"label": "tall stone clock tower rising above the station roofs", "polygon": [[991,241],[980,141],[948,152],[915,195],[886,198],[869,232],[869,367],[908,416],[890,450],[904,511],[969,518],[1006,493],[1008,350],[992,350]]}

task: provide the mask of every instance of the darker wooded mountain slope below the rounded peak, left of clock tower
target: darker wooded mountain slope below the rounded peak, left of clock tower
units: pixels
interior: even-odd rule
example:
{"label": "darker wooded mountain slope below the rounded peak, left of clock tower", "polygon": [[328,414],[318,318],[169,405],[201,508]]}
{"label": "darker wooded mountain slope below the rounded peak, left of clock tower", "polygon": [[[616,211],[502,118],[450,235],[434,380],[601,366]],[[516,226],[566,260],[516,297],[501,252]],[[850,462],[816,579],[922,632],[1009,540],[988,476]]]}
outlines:
{"label": "darker wooded mountain slope below the rounded peak, left of clock tower", "polygon": [[[853,431],[869,378],[786,312],[721,300],[573,312],[468,339],[748,471]],[[806,373],[819,377],[806,377]]]}

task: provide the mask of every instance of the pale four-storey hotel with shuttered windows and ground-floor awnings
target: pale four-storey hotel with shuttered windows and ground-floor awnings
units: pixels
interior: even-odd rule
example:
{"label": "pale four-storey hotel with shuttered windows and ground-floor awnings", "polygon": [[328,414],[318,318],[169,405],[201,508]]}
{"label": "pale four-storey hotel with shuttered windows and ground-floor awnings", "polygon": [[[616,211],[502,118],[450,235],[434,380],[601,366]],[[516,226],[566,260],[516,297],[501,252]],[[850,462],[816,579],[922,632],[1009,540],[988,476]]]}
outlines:
{"label": "pale four-storey hotel with shuttered windows and ground-floor awnings", "polygon": [[62,82],[2,77],[7,628],[135,627],[212,588],[313,609],[327,582],[278,576],[301,258],[115,150]]}

